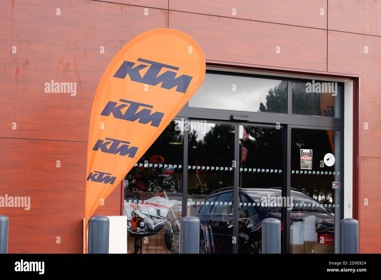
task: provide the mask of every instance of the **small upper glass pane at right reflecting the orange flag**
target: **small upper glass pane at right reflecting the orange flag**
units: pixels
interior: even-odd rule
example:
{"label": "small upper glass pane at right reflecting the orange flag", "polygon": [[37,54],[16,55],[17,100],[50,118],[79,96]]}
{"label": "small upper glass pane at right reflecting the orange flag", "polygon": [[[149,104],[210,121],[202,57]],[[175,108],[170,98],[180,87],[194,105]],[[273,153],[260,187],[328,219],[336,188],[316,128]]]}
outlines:
{"label": "small upper glass pane at right reflecting the orange flag", "polygon": [[292,82],[292,113],[340,118],[341,85],[334,82]]}

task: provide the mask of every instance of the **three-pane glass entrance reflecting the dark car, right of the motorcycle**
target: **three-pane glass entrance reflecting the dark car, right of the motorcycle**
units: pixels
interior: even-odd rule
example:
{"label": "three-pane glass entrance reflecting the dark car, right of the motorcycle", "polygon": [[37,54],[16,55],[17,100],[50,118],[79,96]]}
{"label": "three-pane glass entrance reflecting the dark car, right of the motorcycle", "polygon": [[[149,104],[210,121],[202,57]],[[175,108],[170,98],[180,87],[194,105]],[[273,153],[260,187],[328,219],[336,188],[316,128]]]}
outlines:
{"label": "three-pane glass entrance reflecting the dark car, right of the motorcycle", "polygon": [[238,122],[203,126],[189,130],[184,212],[200,218],[200,253],[261,253],[266,218],[281,221],[282,252],[338,252],[341,130],[289,125],[286,133],[284,126]]}

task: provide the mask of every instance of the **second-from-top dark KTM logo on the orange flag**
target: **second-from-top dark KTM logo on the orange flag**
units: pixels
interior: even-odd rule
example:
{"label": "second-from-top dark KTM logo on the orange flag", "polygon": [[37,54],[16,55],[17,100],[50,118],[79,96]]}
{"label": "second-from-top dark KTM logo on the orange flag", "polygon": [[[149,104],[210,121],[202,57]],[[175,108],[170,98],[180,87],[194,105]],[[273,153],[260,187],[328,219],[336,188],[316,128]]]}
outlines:
{"label": "second-from-top dark KTM logo on the orange flag", "polygon": [[[133,101],[124,100],[124,99],[119,99],[119,101],[123,103],[127,103],[127,104],[118,105],[117,102],[109,101],[106,104],[106,107],[104,107],[101,115],[110,116],[110,114],[112,113],[114,118],[117,118],[117,119],[124,119],[126,121],[136,121],[137,119],[139,119],[138,121],[139,123],[147,124],[151,122],[150,125],[155,127],[159,126],[164,116],[164,113],[160,113],[160,112],[152,113],[152,110],[147,109],[147,108],[151,108],[151,109],[154,108],[154,106],[152,105],[147,105],[147,104],[133,102]],[[130,105],[128,106],[128,104]],[[124,114],[122,114],[122,109],[127,106],[128,106],[127,110],[125,111]],[[136,113],[136,111],[138,111],[140,107],[146,107],[146,108]]]}

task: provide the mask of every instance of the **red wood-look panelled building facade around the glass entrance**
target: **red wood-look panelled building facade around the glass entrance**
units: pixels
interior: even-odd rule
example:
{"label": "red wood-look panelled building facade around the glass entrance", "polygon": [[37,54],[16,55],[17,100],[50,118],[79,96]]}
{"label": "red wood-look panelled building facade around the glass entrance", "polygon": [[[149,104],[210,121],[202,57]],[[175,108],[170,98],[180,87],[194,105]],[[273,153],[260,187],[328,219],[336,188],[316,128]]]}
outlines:
{"label": "red wood-look panelled building facade around the glass entrance", "polygon": [[[381,3],[370,0],[12,0],[0,10],[0,196],[9,253],[82,253],[93,97],[111,59],[155,28],[187,33],[207,67],[352,81],[352,205],[360,253],[381,251]],[[76,82],[74,93],[45,83]],[[97,213],[123,215],[124,186]],[[58,238],[59,237],[59,238]],[[58,243],[57,240],[60,240]]]}

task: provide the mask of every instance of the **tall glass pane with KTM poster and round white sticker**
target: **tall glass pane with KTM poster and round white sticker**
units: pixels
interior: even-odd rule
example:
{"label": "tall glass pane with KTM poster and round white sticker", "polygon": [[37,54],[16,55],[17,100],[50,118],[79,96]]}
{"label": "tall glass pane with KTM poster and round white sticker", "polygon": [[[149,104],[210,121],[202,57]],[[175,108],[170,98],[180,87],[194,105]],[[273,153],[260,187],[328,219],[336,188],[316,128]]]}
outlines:
{"label": "tall glass pane with KTM poster and round white sticker", "polygon": [[[290,252],[333,253],[338,234],[340,132],[291,129]],[[313,250],[313,251],[312,251]]]}

